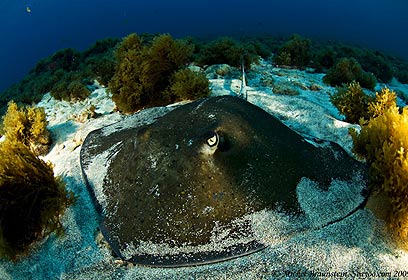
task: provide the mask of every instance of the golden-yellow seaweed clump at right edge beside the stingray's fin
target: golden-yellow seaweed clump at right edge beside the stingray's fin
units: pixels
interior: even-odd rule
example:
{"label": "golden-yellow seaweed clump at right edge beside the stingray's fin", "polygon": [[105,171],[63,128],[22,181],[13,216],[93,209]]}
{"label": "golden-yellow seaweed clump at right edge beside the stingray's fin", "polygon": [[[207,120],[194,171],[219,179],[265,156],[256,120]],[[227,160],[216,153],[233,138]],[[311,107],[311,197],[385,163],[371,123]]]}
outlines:
{"label": "golden-yellow seaweed clump at right edge beside the stingray's fin", "polygon": [[351,130],[354,152],[367,160],[372,195],[381,197],[386,222],[397,240],[408,238],[408,108],[400,112],[395,93],[384,89],[372,104],[375,113],[360,122],[361,131]]}

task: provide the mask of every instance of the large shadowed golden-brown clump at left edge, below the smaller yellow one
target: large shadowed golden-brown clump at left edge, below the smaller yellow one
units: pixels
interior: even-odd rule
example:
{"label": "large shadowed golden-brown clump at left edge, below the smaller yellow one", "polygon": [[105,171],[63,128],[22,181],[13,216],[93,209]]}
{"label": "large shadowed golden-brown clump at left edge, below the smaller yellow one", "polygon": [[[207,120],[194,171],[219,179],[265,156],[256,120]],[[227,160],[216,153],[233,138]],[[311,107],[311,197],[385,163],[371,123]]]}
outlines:
{"label": "large shadowed golden-brown clump at left edge, below the smaller yellow one", "polygon": [[0,143],[0,256],[17,260],[51,232],[74,196],[52,167],[19,142]]}

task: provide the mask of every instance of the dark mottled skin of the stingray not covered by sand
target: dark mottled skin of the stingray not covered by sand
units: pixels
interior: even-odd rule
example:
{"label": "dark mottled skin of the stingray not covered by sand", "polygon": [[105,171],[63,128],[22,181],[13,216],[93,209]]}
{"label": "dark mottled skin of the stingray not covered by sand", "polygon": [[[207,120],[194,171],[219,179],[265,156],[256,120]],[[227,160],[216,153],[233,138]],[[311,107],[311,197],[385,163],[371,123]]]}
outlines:
{"label": "dark mottled skin of the stingray not covered by sand", "polygon": [[[201,153],[214,131],[217,150]],[[337,144],[315,147],[259,107],[230,96],[180,106],[151,125],[98,141],[123,141],[104,181],[104,222],[121,244],[206,244],[216,222],[228,225],[277,205],[299,213],[296,186],[302,177],[326,189],[333,178],[363,172]]]}

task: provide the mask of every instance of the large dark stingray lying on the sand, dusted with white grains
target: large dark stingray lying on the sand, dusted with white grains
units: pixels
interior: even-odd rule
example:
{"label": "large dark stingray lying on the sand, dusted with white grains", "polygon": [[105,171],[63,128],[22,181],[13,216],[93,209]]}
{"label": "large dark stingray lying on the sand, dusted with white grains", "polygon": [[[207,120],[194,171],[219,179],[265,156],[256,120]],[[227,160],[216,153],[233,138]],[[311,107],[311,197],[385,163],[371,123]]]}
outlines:
{"label": "large dark stingray lying on the sand, dusted with white grains", "polygon": [[[333,180],[366,177],[365,165],[338,144],[305,138],[231,96],[151,108],[95,130],[80,162],[113,251],[151,266],[256,252],[266,245],[255,234],[252,214],[301,216],[302,180],[326,192]],[[337,222],[349,210],[322,223]]]}

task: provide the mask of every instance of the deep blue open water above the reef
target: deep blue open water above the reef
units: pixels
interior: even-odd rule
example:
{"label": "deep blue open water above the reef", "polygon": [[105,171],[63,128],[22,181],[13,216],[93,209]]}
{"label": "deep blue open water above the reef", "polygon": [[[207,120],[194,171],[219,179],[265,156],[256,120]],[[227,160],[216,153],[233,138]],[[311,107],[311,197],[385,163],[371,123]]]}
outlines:
{"label": "deep blue open water above the reef", "polygon": [[131,32],[298,33],[408,60],[407,27],[406,0],[1,0],[0,91],[56,50]]}

